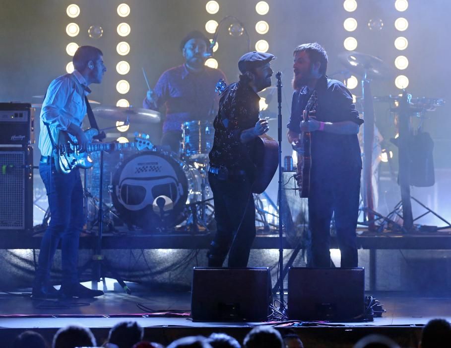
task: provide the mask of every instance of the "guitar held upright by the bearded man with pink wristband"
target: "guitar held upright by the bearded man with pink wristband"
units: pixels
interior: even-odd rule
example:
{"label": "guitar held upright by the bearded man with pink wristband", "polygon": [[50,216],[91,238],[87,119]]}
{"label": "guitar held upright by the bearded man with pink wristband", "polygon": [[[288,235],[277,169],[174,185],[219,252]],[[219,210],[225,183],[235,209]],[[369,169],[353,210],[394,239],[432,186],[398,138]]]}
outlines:
{"label": "guitar held upright by the bearded man with pink wristband", "polygon": [[[305,108],[304,120],[309,120],[309,114],[316,111],[318,107],[317,91],[314,90]],[[308,198],[310,195],[310,170],[312,168],[311,145],[312,138],[310,132],[302,132],[300,139],[301,147],[298,152],[298,164],[296,166],[295,179],[299,187],[299,195]]]}

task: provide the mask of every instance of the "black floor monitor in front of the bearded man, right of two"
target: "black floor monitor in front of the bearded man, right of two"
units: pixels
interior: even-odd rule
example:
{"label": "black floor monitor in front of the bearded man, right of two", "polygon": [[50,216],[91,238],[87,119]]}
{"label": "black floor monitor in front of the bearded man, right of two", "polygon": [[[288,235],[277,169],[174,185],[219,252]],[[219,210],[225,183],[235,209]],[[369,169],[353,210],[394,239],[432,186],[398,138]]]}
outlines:
{"label": "black floor monitor in front of the bearded man, right of two", "polygon": [[288,319],[353,321],[364,311],[364,268],[289,269]]}

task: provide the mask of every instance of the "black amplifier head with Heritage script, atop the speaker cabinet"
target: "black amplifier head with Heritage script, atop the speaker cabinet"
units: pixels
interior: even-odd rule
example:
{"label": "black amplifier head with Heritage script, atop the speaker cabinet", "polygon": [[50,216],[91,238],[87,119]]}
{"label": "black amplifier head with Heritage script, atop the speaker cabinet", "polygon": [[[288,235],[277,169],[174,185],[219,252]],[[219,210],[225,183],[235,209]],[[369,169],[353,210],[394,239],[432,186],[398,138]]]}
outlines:
{"label": "black amplifier head with Heritage script, atop the speaker cabinet", "polygon": [[33,144],[34,112],[28,103],[0,103],[0,144]]}

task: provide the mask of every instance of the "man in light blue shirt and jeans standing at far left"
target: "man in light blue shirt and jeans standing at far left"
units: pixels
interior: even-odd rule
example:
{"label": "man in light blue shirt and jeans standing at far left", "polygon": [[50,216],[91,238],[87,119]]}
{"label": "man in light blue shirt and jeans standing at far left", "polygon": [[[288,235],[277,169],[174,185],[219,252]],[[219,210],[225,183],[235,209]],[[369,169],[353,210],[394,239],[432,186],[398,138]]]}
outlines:
{"label": "man in light blue shirt and jeans standing at far left", "polygon": [[[47,190],[50,207],[50,225],[44,233],[39,253],[38,269],[33,283],[32,297],[95,297],[103,295],[78,282],[78,242],[84,224],[83,188],[80,173],[73,170],[61,174],[56,170],[52,142],[61,131],[76,138],[81,152],[86,151],[88,140],[81,129],[86,113],[86,95],[90,84],[100,84],[107,71],[103,53],[92,46],[80,46],[73,59],[72,74],[58,77],[50,84],[41,110],[39,174]],[[49,134],[50,131],[50,134]],[[58,164],[57,164],[58,165]],[[63,279],[60,293],[50,285],[50,268],[61,240]]]}

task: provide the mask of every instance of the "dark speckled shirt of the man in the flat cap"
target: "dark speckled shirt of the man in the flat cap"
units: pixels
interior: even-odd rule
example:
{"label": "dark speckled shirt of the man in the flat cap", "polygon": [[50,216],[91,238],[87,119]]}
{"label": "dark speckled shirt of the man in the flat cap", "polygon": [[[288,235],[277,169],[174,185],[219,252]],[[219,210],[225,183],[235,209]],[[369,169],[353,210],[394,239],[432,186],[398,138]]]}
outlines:
{"label": "dark speckled shirt of the man in the flat cap", "polygon": [[210,151],[210,166],[227,169],[253,170],[250,154],[254,141],[241,142],[241,132],[253,128],[258,121],[260,97],[248,84],[229,85],[219,101],[214,119],[214,141]]}

